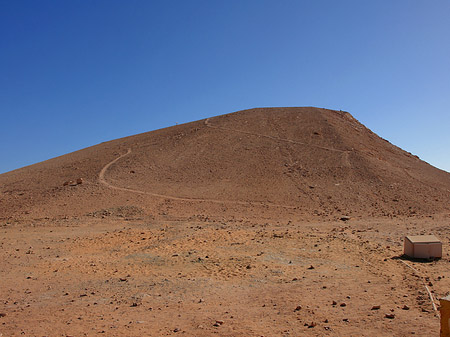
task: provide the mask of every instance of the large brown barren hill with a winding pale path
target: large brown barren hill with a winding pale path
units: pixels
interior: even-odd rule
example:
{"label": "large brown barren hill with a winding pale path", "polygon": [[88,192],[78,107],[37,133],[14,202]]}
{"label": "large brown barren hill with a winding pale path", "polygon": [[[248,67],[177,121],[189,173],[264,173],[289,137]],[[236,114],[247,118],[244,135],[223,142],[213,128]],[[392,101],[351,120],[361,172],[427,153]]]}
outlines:
{"label": "large brown barren hill with a winding pale path", "polygon": [[[82,178],[71,186],[67,181]],[[349,113],[238,111],[95,145],[0,175],[0,218],[258,218],[450,210],[450,174]],[[103,213],[102,213],[103,212]]]}

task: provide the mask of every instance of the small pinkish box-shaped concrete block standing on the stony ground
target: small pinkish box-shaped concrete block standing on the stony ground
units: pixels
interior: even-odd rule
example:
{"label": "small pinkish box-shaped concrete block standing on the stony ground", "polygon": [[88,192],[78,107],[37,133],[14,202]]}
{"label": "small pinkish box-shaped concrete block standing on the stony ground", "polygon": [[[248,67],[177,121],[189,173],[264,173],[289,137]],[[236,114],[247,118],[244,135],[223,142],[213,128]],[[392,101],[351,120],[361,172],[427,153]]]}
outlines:
{"label": "small pinkish box-shaped concrete block standing on the stony ground", "polygon": [[403,253],[416,259],[442,257],[442,242],[434,235],[406,236]]}

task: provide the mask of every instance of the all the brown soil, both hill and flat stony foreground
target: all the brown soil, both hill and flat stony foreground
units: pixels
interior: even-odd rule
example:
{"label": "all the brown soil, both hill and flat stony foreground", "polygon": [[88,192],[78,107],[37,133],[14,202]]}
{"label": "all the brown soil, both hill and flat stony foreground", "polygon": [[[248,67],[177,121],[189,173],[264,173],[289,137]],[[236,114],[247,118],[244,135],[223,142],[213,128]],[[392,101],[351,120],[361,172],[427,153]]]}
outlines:
{"label": "all the brown soil, both hill and flat stony foreground", "polygon": [[[346,112],[118,139],[0,193],[0,336],[429,336],[450,290],[450,174]],[[421,233],[441,260],[400,258]]]}

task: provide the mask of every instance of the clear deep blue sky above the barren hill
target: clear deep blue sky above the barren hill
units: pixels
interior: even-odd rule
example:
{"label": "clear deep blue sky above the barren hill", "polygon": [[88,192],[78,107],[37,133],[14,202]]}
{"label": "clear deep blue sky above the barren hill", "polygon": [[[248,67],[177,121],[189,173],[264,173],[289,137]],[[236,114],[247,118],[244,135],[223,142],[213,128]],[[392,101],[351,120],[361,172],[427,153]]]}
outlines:
{"label": "clear deep blue sky above the barren hill", "polygon": [[450,1],[0,0],[0,173],[272,106],[450,171]]}

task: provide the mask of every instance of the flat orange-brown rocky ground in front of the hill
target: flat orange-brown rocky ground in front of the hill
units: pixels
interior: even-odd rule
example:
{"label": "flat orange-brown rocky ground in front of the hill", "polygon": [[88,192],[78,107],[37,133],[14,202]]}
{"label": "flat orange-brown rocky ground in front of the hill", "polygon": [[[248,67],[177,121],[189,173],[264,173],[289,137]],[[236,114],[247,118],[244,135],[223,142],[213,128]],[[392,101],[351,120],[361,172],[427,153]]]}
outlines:
{"label": "flat orange-brown rocky ground in front of the hill", "polygon": [[[431,336],[450,215],[177,221],[105,212],[2,223],[2,336]],[[405,260],[433,233],[437,261]],[[438,305],[439,302],[437,301]]]}

